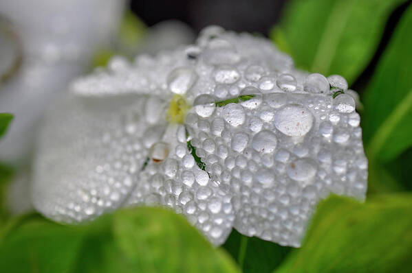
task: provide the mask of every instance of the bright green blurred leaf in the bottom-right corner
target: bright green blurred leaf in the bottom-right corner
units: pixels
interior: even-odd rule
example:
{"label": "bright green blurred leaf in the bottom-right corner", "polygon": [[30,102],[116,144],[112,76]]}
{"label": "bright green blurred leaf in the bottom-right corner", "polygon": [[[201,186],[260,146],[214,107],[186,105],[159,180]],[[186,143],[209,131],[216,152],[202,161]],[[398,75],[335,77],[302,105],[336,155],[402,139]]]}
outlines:
{"label": "bright green blurred leaf in the bottom-right corner", "polygon": [[319,204],[303,246],[281,272],[410,272],[412,195],[375,195],[360,204],[332,196]]}

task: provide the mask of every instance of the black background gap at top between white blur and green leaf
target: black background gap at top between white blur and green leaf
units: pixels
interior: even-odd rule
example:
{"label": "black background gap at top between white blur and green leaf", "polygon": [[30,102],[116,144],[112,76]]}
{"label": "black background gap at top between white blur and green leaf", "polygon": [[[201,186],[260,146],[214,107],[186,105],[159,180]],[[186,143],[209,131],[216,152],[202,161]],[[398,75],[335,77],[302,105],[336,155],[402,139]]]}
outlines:
{"label": "black background gap at top between white blur and green leaf", "polygon": [[133,0],[131,10],[149,26],[177,19],[195,32],[213,24],[267,35],[279,20],[284,3],[285,0]]}

